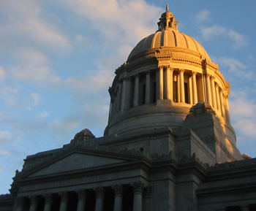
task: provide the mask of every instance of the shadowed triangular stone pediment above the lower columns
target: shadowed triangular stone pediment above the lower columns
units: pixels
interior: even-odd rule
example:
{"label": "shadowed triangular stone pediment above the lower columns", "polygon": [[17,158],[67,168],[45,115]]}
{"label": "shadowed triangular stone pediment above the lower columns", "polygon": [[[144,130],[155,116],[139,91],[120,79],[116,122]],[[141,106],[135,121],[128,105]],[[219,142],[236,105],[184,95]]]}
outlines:
{"label": "shadowed triangular stone pediment above the lower columns", "polygon": [[61,174],[67,172],[74,172],[86,169],[97,169],[100,166],[113,166],[115,164],[127,163],[131,161],[130,158],[121,158],[113,155],[105,156],[90,153],[72,152],[61,158],[55,158],[54,161],[42,165],[29,175],[28,177],[40,177],[50,174]]}

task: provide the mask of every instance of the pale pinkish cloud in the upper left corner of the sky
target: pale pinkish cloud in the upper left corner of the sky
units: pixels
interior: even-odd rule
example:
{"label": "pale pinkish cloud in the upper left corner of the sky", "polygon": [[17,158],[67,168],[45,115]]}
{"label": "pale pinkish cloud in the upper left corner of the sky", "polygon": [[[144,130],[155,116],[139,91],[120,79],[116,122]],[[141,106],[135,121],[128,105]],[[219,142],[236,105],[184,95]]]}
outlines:
{"label": "pale pinkish cloud in the upper left corner of the sky", "polygon": [[[64,37],[53,23],[42,18],[42,6],[39,1],[1,1],[1,12],[7,20],[0,28],[1,45],[12,46],[29,44],[34,42],[41,47],[48,47],[51,50],[69,49],[69,39]],[[11,24],[8,24],[11,23]],[[11,39],[10,39],[11,38]]]}

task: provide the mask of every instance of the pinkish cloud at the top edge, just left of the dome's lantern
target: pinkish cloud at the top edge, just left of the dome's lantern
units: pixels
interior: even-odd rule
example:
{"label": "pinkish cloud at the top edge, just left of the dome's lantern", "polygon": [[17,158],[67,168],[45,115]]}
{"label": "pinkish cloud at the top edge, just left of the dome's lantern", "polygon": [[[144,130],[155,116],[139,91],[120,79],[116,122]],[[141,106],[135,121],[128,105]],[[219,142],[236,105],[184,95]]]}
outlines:
{"label": "pinkish cloud at the top edge, just left of the dome's lantern", "polygon": [[157,29],[156,20],[162,12],[162,9],[140,0],[67,0],[67,7],[89,19],[90,27],[116,42],[138,42],[143,36],[146,37]]}

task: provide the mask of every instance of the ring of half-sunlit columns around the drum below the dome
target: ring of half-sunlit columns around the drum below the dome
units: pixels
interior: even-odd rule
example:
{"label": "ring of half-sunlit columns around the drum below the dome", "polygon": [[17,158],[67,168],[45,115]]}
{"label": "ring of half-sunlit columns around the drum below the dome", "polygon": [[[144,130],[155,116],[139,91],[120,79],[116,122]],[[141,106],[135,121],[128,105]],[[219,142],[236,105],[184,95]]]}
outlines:
{"label": "ring of half-sunlit columns around the drum below the dome", "polygon": [[223,93],[222,85],[217,83],[214,75],[173,69],[171,66],[158,66],[157,70],[147,70],[129,77],[124,74],[111,96],[110,118],[120,110],[124,112],[157,100],[187,104],[207,101],[230,122],[228,96]]}

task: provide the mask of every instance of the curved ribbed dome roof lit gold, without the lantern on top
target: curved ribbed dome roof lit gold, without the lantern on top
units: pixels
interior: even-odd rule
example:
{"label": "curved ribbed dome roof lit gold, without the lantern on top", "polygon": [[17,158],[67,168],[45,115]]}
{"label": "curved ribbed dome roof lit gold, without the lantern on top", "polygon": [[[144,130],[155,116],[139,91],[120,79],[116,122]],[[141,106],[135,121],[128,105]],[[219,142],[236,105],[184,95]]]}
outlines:
{"label": "curved ribbed dome roof lit gold, without the lantern on top", "polygon": [[204,58],[210,60],[208,53],[206,53],[206,50],[204,50],[203,46],[200,45],[199,42],[187,34],[183,34],[173,28],[173,30],[157,31],[155,34],[151,34],[142,39],[129,54],[127,61],[130,61],[139,53],[159,47],[174,47],[192,50],[200,53],[200,55],[202,55]]}

